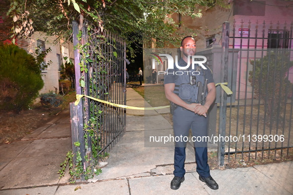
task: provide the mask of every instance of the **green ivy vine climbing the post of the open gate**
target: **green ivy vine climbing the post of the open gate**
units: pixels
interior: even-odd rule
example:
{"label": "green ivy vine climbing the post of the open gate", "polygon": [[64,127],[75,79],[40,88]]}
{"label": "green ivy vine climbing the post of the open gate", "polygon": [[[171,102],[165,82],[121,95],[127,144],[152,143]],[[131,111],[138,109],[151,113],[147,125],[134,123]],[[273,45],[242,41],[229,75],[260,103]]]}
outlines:
{"label": "green ivy vine climbing the post of the open gate", "polygon": [[[96,29],[93,26],[84,23],[86,25],[86,31],[79,31],[77,35],[77,39],[79,43],[75,46],[74,49],[79,50],[80,54],[80,72],[81,78],[79,80],[79,84],[82,87],[82,93],[86,94],[86,90],[90,94],[95,94],[96,98],[105,98],[109,93],[106,90],[108,88],[107,82],[109,82],[110,78],[107,78],[108,69],[102,66],[96,67],[95,71],[93,71],[92,64],[93,63],[103,63],[103,62],[112,62],[112,58],[117,58],[116,52],[116,40],[113,40],[113,44],[107,41],[107,38],[103,35],[100,35],[99,31],[91,31],[91,29]],[[87,42],[84,42],[83,36],[87,37]],[[95,40],[93,40],[95,39]],[[95,42],[94,42],[95,41]],[[84,42],[81,44],[81,42]],[[107,59],[102,53],[102,47],[107,45],[112,48],[112,58]],[[94,62],[95,61],[95,62]],[[97,62],[98,61],[98,62]],[[113,66],[117,66],[115,63]],[[112,67],[113,68],[113,67]],[[89,69],[91,69],[91,77],[86,83],[86,77],[89,73]],[[104,80],[100,84],[97,84],[97,80]],[[95,83],[95,84],[92,84]],[[103,131],[103,111],[102,105],[92,101],[92,100],[84,100],[84,113],[89,109],[89,116],[85,114],[84,117],[84,143],[86,155],[84,160],[80,154],[80,143],[74,143],[74,146],[78,148],[78,152],[73,154],[72,151],[68,152],[66,155],[66,159],[61,164],[61,170],[59,170],[60,177],[64,176],[66,165],[69,164],[69,174],[71,176],[70,181],[73,182],[77,179],[85,179],[88,180],[93,178],[94,174],[100,174],[102,170],[99,168],[99,159],[105,158],[109,156],[108,153],[99,154],[99,151],[102,150],[102,140],[100,133]],[[87,109],[86,109],[87,108]],[[100,120],[98,119],[100,118]],[[72,159],[75,158],[75,166],[73,165]],[[83,161],[85,161],[83,163]]]}

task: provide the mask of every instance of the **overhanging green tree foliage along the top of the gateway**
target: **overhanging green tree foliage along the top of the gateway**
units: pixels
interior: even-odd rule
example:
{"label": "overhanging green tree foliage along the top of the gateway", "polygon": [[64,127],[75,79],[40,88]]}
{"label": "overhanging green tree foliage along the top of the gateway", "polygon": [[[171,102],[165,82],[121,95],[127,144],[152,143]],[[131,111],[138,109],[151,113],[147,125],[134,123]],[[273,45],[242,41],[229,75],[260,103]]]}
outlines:
{"label": "overhanging green tree foliage along the top of the gateway", "polygon": [[[193,18],[224,0],[9,0],[14,35],[29,37],[34,31],[69,38],[72,20],[87,19],[92,28],[119,34],[129,42],[156,39],[158,46],[177,43],[176,26],[168,14]],[[216,3],[215,3],[216,2]],[[173,36],[172,36],[173,35]]]}

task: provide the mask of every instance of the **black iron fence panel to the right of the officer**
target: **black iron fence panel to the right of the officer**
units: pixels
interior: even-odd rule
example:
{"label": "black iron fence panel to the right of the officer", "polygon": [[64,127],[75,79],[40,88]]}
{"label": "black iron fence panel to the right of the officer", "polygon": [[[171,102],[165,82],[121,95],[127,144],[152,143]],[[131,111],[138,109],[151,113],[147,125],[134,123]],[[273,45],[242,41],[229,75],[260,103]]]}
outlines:
{"label": "black iron fence panel to the right of the officer", "polygon": [[236,93],[227,104],[225,155],[248,160],[288,155],[293,148],[293,23],[231,26],[229,47],[238,52],[238,64],[232,66],[237,67]]}

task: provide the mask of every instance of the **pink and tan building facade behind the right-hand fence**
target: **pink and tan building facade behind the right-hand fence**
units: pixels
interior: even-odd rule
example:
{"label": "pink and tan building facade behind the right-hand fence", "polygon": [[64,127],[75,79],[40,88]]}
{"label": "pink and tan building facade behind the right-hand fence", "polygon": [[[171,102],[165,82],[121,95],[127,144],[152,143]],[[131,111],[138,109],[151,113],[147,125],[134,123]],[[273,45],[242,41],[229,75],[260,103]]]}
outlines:
{"label": "pink and tan building facade behind the right-hand fence", "polygon": [[[227,1],[228,2],[228,1]],[[212,7],[201,18],[173,14],[178,32],[185,27],[194,29],[197,50],[206,49],[213,38],[221,44],[222,24],[230,23],[230,50],[239,50],[237,59],[236,97],[252,98],[252,84],[248,81],[252,71],[250,60],[267,55],[268,49],[288,49],[293,60],[293,1],[292,0],[231,0],[230,9]],[[184,36],[182,36],[184,37]],[[177,46],[178,47],[178,46]],[[293,68],[287,74],[293,83]]]}

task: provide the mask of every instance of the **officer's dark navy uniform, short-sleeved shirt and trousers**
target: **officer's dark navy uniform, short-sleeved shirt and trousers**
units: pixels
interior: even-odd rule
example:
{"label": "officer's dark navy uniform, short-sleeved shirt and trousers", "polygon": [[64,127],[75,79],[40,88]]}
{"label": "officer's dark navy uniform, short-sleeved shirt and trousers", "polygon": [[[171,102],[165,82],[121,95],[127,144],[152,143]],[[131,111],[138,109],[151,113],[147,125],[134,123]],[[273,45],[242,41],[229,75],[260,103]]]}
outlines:
{"label": "officer's dark navy uniform, short-sleeved shirt and trousers", "polygon": [[[187,63],[181,58],[178,62],[178,65],[180,67],[184,67],[187,65]],[[199,67],[199,66],[198,66]],[[179,71],[179,75],[172,74],[175,73],[176,71]],[[191,65],[190,69],[188,70],[189,76],[184,76],[180,75],[181,73],[187,74],[186,70],[178,70],[178,69],[169,69],[168,74],[165,75],[164,78],[164,84],[168,83],[175,83],[175,90],[174,93],[179,95],[179,97],[183,100],[185,99],[185,102],[190,102],[190,103],[198,103],[197,101],[197,91],[198,89],[195,87],[195,85],[188,84],[190,83],[191,79],[190,78],[191,72],[198,71],[200,74],[199,76],[196,77],[196,82],[201,81],[203,83],[204,79],[208,79],[207,83],[214,82],[212,73],[210,69],[203,70],[202,68],[197,68],[195,65],[195,70],[191,70]],[[196,72],[195,74],[198,74]],[[181,77],[181,78],[179,78]],[[189,86],[188,86],[189,85]],[[192,86],[190,86],[192,85]],[[189,87],[189,88],[188,88]],[[191,88],[190,88],[191,87]],[[187,92],[187,95],[186,95]],[[184,97],[184,95],[186,97]],[[191,95],[191,97],[190,97]],[[196,97],[196,98],[195,98]],[[190,98],[186,100],[186,98]],[[177,106],[176,109],[174,110],[173,114],[173,129],[174,129],[174,136],[175,137],[184,137],[188,136],[189,134],[189,129],[191,128],[192,130],[192,136],[193,137],[202,137],[202,136],[207,136],[207,118],[204,116],[199,116],[197,114],[194,114],[192,111],[186,110],[182,107]],[[208,165],[208,156],[207,156],[207,142],[194,142],[195,146],[195,159],[196,159],[196,171],[201,177],[209,177],[210,176],[210,168]],[[185,169],[184,169],[184,161],[185,161],[185,147],[186,143],[184,142],[176,142],[175,146],[175,155],[174,155],[174,175],[178,177],[183,177],[185,174]]]}

